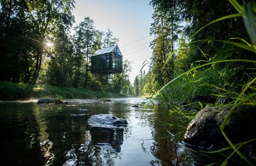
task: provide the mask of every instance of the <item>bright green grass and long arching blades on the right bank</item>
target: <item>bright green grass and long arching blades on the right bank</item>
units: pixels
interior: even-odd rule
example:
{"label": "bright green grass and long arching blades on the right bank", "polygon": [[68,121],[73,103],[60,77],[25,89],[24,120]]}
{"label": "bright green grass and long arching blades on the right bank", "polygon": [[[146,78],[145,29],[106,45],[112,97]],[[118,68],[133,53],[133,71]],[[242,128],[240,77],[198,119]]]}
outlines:
{"label": "bright green grass and long arching blades on the right bank", "polygon": [[[238,47],[239,49],[245,49],[247,51],[256,53],[256,3],[254,1],[248,2],[246,5],[241,6],[237,1],[235,0],[229,0],[229,2],[232,4],[232,6],[235,7],[235,9],[238,11],[237,14],[224,16],[222,18],[219,18],[217,20],[214,20],[210,22],[209,24],[205,25],[201,29],[199,29],[194,35],[200,33],[200,31],[205,28],[208,25],[211,25],[217,21],[230,19],[230,18],[236,18],[236,17],[243,17],[244,24],[246,27],[246,30],[248,32],[248,35],[251,39],[251,43],[247,42],[245,39],[241,38],[235,38],[237,41],[240,41],[240,43],[232,42],[230,40],[204,40],[204,41],[194,41],[191,43],[196,42],[220,42],[220,43],[226,43],[233,45],[235,47]],[[192,37],[194,36],[192,35]],[[234,39],[234,38],[233,38]],[[189,43],[189,44],[191,44]],[[200,48],[199,48],[200,49]],[[201,50],[201,49],[200,49]],[[175,51],[176,52],[176,51]],[[221,164],[222,166],[225,166],[228,164],[228,160],[231,158],[232,155],[235,153],[240,156],[246,163],[246,165],[253,165],[245,156],[243,156],[239,148],[246,143],[242,142],[239,145],[234,145],[230,141],[230,139],[227,137],[225,132],[223,131],[226,121],[229,118],[232,110],[234,110],[238,105],[241,104],[249,104],[256,106],[256,61],[252,59],[225,59],[225,60],[219,60],[214,58],[208,58],[207,54],[203,53],[203,50],[201,50],[202,54],[205,57],[205,60],[202,65],[193,66],[183,73],[176,73],[174,78],[172,80],[169,80],[164,86],[160,86],[157,83],[156,89],[157,92],[151,92],[152,95],[148,99],[156,98],[159,103],[165,103],[167,107],[169,107],[170,114],[172,113],[179,113],[181,116],[188,118],[189,120],[193,119],[196,112],[201,110],[205,107],[203,103],[200,101],[196,104],[199,106],[198,110],[193,110],[195,112],[191,112],[187,110],[186,106],[192,105],[194,103],[188,103],[186,105],[182,104],[185,100],[190,98],[191,95],[210,95],[215,96],[216,101],[211,103],[208,106],[216,106],[216,105],[232,105],[232,109],[227,114],[225,119],[223,120],[223,123],[221,125],[221,132],[223,137],[226,139],[226,141],[229,143],[230,147],[223,147],[223,149],[220,149],[219,151],[224,151],[227,148],[233,149],[233,153],[231,153],[229,156],[227,156],[226,160],[223,161]],[[170,59],[171,56],[173,56],[174,53],[172,53],[168,59]],[[255,56],[255,55],[254,55]],[[165,64],[168,62],[165,62]],[[199,61],[197,61],[199,62]],[[236,66],[237,63],[241,64],[249,64],[245,67],[243,65]],[[224,68],[218,67],[218,64],[227,64]],[[234,67],[230,67],[230,66]],[[225,66],[225,65],[221,65]],[[164,70],[164,66],[163,66]],[[230,99],[227,103],[218,102],[218,99],[220,98],[227,98]],[[170,126],[175,126],[176,124],[170,124]],[[213,151],[211,153],[218,153],[219,151]]]}

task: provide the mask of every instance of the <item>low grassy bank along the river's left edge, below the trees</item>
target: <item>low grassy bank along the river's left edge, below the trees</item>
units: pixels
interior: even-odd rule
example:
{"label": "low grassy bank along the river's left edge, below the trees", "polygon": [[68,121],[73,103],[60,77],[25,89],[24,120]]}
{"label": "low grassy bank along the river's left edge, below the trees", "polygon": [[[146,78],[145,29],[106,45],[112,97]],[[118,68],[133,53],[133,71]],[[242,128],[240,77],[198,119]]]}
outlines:
{"label": "low grassy bank along the river's left edge, below the trees", "polygon": [[0,82],[0,100],[29,100],[39,98],[56,98],[57,96],[62,96],[63,99],[103,99],[127,97],[121,94],[114,94],[111,92],[95,92],[83,88]]}

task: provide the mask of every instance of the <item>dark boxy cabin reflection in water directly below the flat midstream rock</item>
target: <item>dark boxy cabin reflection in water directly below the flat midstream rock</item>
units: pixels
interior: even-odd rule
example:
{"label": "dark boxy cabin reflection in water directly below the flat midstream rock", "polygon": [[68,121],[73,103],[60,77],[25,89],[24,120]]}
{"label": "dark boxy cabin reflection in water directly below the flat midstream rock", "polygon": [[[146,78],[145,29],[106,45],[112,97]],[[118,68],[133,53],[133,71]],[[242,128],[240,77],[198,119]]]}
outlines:
{"label": "dark boxy cabin reflection in water directly below the flat midstream rock", "polygon": [[102,149],[119,153],[124,142],[124,129],[92,127],[90,129],[92,144]]}

